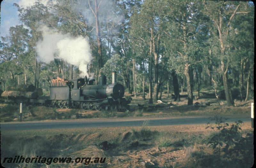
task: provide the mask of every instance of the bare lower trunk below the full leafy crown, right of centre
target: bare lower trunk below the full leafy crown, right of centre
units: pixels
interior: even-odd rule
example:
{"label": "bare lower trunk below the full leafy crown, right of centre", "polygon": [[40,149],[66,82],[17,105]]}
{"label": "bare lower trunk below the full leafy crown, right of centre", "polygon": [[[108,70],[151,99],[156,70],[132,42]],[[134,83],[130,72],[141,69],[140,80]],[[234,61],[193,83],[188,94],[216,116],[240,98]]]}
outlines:
{"label": "bare lower trunk below the full leafy crown, right of centre", "polygon": [[193,105],[193,70],[188,64],[185,64],[184,72],[187,80],[188,105]]}

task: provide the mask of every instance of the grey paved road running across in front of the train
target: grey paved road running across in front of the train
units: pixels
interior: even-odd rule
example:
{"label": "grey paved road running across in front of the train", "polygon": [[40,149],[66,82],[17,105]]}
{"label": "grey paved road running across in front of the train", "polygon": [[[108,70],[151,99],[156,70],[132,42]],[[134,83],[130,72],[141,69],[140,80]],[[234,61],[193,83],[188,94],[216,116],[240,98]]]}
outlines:
{"label": "grey paved road running across in front of the train", "polygon": [[[229,117],[226,122],[251,122],[250,117]],[[67,120],[67,121],[37,121],[37,122],[7,122],[0,123],[1,131],[8,130],[31,130],[31,129],[76,129],[90,127],[136,127],[142,126],[145,121],[147,126],[166,126],[166,125],[188,125],[206,124],[210,121],[209,117],[172,117],[172,118],[140,118],[140,119],[87,119],[87,120]]]}

